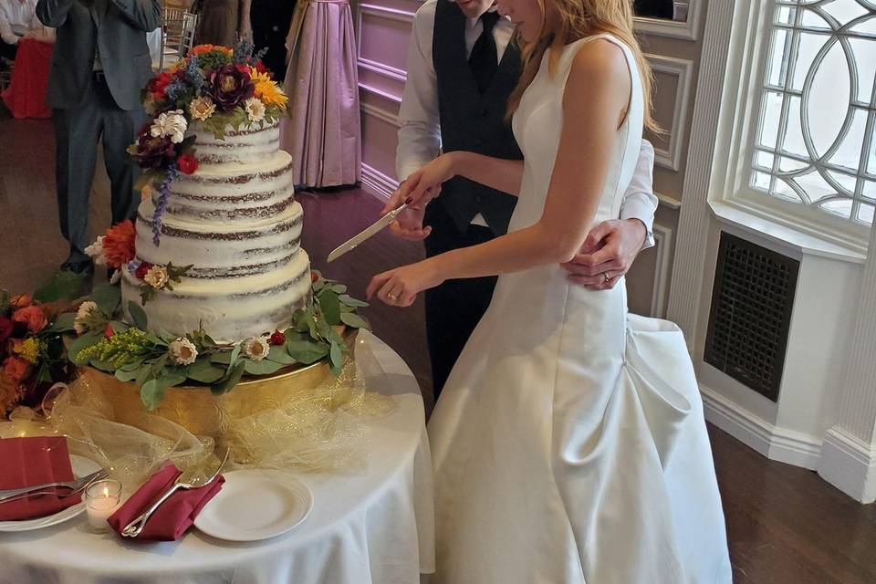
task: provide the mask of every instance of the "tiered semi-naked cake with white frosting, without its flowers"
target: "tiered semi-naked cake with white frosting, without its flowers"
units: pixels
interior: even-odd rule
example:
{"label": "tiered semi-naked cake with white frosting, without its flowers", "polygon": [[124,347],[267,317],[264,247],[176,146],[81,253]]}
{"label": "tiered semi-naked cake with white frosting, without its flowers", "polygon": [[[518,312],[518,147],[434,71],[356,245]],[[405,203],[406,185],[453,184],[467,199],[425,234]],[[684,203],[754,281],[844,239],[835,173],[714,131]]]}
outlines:
{"label": "tiered semi-naked cake with white frosting, without its flowers", "polygon": [[[228,129],[224,139],[193,123],[187,134],[195,136],[199,167],[172,182],[159,245],[151,236],[158,193],[143,200],[136,219],[138,261],[192,266],[143,307],[149,328],[184,334],[203,327],[221,342],[286,328],[307,301],[310,263],[278,122]],[[141,282],[123,272],[127,311],[130,300],[140,303]]]}

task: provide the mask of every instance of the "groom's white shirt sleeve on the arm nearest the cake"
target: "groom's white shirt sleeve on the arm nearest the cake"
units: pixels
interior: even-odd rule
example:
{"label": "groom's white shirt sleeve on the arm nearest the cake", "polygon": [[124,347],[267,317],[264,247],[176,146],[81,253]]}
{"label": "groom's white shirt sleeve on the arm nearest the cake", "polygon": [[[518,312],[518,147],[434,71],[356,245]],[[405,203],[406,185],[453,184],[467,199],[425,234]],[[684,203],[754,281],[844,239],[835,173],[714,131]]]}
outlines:
{"label": "groom's white shirt sleeve on the arm nearest the cake", "polygon": [[438,80],[432,59],[434,1],[426,2],[413,20],[408,47],[408,79],[399,109],[399,146],[395,171],[399,181],[441,153]]}

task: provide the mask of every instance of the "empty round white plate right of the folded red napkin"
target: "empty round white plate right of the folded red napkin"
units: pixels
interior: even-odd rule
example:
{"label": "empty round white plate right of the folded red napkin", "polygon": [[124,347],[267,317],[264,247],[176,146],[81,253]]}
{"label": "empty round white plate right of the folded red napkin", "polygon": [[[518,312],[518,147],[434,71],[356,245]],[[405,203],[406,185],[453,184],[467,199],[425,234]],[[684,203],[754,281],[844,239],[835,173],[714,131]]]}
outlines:
{"label": "empty round white plate right of the folded red napkin", "polygon": [[271,469],[225,473],[222,490],[194,519],[208,536],[228,541],[276,537],[300,525],[313,508],[313,493],[295,476]]}

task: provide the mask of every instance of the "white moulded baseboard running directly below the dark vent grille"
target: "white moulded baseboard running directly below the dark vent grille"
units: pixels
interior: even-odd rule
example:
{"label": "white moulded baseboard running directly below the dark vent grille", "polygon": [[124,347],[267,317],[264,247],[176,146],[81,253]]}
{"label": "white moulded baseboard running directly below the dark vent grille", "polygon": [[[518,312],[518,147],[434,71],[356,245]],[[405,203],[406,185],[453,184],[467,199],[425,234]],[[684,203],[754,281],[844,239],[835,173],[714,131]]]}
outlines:
{"label": "white moulded baseboard running directly below the dark vent grille", "polygon": [[700,384],[705,419],[769,460],[814,470],[822,441],[816,436],[777,427]]}

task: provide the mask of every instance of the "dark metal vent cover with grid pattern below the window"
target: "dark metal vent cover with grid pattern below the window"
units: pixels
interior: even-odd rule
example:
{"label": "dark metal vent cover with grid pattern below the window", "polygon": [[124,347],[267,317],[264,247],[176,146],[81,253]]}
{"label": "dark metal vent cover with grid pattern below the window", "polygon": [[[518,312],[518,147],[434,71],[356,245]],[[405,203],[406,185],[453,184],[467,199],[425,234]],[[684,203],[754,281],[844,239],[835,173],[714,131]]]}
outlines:
{"label": "dark metal vent cover with grid pattern below the window", "polygon": [[721,233],[704,361],[772,401],[785,367],[800,263]]}

